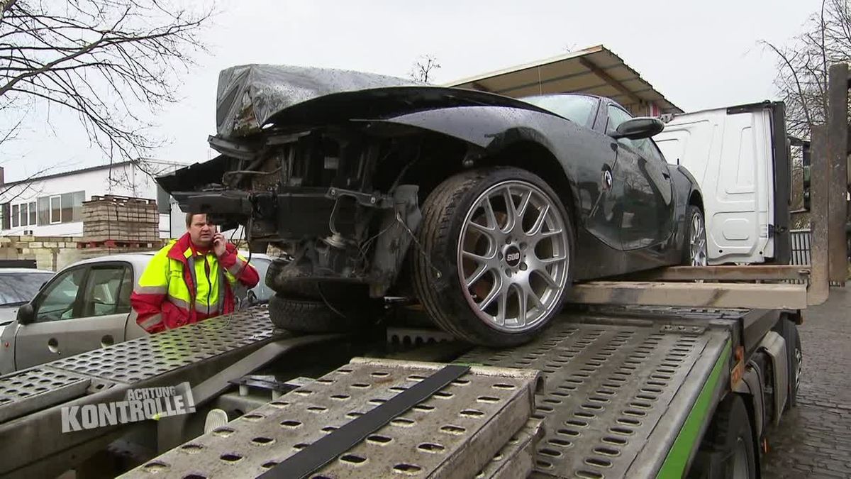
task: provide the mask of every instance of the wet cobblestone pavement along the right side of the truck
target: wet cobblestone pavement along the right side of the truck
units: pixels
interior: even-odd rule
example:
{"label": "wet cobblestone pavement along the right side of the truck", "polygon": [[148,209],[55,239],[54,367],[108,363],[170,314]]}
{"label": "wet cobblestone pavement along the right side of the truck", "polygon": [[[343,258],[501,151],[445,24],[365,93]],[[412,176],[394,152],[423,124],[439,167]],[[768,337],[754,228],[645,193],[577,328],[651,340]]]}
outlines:
{"label": "wet cobblestone pavement along the right side of the truck", "polygon": [[851,286],[803,320],[798,406],[769,435],[763,477],[851,477]]}

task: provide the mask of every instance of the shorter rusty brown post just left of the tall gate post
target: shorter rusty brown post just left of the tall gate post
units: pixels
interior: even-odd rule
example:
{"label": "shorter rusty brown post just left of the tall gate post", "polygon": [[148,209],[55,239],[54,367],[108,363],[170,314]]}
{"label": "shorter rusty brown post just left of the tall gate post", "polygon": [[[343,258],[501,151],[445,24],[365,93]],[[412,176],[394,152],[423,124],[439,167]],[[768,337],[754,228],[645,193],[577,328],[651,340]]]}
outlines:
{"label": "shorter rusty brown post just left of the tall gate post", "polygon": [[810,223],[813,235],[810,261],[812,272],[808,290],[808,304],[821,304],[827,300],[829,293],[829,262],[828,262],[828,199],[827,186],[829,182],[827,168],[827,128],[825,125],[812,127],[812,147],[810,160]]}

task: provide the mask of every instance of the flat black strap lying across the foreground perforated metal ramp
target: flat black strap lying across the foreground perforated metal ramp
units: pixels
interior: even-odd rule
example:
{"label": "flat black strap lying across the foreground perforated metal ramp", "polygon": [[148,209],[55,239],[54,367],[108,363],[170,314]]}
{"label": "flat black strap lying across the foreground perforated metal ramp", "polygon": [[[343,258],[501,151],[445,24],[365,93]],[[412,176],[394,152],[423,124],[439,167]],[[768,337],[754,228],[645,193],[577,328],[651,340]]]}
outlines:
{"label": "flat black strap lying across the foreground perforated metal ramp", "polygon": [[431,395],[470,370],[470,366],[448,365],[414,386],[393,396],[389,401],[375,407],[363,416],[356,418],[334,430],[328,436],[312,443],[298,453],[284,459],[283,462],[267,470],[260,477],[263,479],[302,478],[328,464],[331,460],[345,453],[366,436],[379,430],[391,419],[408,411],[411,407],[426,401]]}

